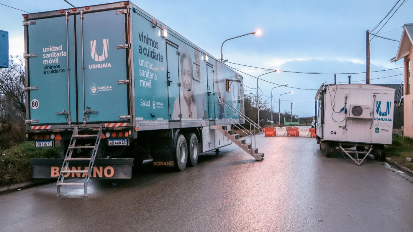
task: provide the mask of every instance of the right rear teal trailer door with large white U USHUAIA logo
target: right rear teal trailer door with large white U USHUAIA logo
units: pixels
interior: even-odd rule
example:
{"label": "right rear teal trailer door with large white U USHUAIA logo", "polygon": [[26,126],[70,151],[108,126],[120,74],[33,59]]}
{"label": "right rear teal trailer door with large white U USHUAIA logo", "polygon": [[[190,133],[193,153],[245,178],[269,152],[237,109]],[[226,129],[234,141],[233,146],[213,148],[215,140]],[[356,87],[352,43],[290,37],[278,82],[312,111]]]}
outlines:
{"label": "right rear teal trailer door with large white U USHUAIA logo", "polygon": [[128,14],[76,15],[79,122],[131,118],[128,107]]}

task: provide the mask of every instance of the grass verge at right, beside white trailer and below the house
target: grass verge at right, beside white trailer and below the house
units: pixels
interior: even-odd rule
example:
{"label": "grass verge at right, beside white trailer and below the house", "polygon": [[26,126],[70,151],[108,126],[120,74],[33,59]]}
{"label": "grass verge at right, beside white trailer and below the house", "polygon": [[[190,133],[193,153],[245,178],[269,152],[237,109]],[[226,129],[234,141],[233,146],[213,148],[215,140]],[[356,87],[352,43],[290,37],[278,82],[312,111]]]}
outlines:
{"label": "grass verge at right, beside white trailer and below the house", "polygon": [[413,169],[413,162],[406,162],[408,157],[413,159],[413,138],[393,134],[392,145],[386,145],[385,149],[387,157],[409,169]]}

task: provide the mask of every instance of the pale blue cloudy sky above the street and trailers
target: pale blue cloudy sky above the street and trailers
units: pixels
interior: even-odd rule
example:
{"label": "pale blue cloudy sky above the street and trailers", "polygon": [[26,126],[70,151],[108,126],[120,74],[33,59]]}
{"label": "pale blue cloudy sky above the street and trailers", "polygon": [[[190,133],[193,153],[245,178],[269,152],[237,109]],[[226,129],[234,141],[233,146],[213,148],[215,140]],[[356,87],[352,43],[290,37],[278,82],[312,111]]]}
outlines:
{"label": "pale blue cloudy sky above the street and trailers", "polygon": [[[85,5],[83,0],[70,0],[70,2],[79,7]],[[95,5],[109,1],[87,2],[89,5]],[[325,73],[342,73],[345,70],[346,73],[353,73],[366,70],[366,53],[363,49],[366,44],[366,30],[373,29],[396,0],[138,0],[133,2],[216,58],[220,56],[223,40],[261,28],[263,34],[259,37],[248,35],[225,42],[224,59],[234,63],[280,70]],[[63,0],[0,0],[0,3],[31,13],[70,8]],[[413,19],[410,19],[412,7],[413,1],[407,0],[380,33],[398,29],[380,35],[399,40],[402,31],[400,27],[404,23],[413,22]],[[0,5],[0,29],[9,31],[11,55],[21,55],[24,52],[22,13]],[[370,45],[370,69],[374,71],[403,66],[402,62],[389,62],[395,56],[398,45],[398,42],[374,38]],[[357,59],[354,59],[362,49]],[[248,68],[229,65],[234,68]],[[242,71],[254,76],[266,73],[266,71],[250,69]],[[401,72],[402,69],[380,74],[372,73],[371,78],[386,77]],[[338,75],[337,82],[346,82],[347,76]],[[288,84],[290,87],[307,89],[318,89],[323,82],[334,82],[333,75],[282,72],[268,74],[262,78],[278,84]],[[351,80],[354,81],[364,79],[365,74],[351,75]],[[371,83],[397,84],[402,79],[399,75],[371,80]],[[256,79],[244,75],[244,84],[256,88]],[[275,85],[262,81],[259,85],[265,95],[271,96],[271,89]],[[297,101],[294,104],[294,114],[303,117],[313,116],[314,104],[298,102],[298,100],[313,100],[316,91],[280,87],[274,89],[273,95],[278,101],[280,94],[289,91],[294,91],[294,94],[283,95],[282,99]],[[278,111],[278,103],[273,104],[274,111]],[[290,103],[282,102],[281,110],[290,110]]]}

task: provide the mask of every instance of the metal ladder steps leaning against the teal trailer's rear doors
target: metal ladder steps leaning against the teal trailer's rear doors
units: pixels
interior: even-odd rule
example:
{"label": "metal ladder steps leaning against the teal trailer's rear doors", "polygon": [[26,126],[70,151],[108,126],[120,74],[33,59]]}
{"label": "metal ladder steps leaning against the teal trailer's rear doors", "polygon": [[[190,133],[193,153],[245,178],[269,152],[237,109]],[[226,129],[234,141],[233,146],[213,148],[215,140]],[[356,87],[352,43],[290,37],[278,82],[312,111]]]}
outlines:
{"label": "metal ladder steps leaning against the teal trailer's rear doors", "polygon": [[[76,140],[77,138],[96,138],[96,142],[93,146],[76,146]],[[79,135],[78,134],[78,127],[75,127],[73,130],[72,137],[70,139],[69,143],[69,148],[67,149],[66,155],[64,157],[64,161],[62,164],[62,168],[60,169],[59,177],[57,178],[57,195],[60,195],[60,187],[62,186],[80,186],[83,185],[84,188],[84,195],[88,195],[88,183],[89,183],[89,178],[91,176],[91,173],[93,171],[93,166],[95,165],[95,159],[96,159],[96,154],[97,154],[97,149],[99,148],[100,144],[100,138],[102,137],[102,126],[99,128],[99,132],[97,134],[92,134],[92,135]],[[90,158],[72,158],[72,154],[74,150],[77,149],[90,149],[93,148],[92,155]],[[89,160],[89,166],[87,170],[70,170],[69,168],[69,162],[74,161],[74,160]],[[86,175],[83,175],[84,182],[83,183],[65,183],[64,181],[64,176],[67,175],[67,173],[85,173]],[[82,176],[82,178],[83,178]]]}

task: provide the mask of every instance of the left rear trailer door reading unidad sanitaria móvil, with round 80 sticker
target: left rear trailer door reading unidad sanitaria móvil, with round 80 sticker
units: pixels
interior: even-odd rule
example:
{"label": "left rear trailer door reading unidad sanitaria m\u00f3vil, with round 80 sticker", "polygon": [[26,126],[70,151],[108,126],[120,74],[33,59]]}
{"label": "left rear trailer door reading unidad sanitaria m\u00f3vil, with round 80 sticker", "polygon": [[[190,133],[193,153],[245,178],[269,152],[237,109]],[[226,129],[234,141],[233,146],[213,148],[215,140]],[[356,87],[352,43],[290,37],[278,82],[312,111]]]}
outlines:
{"label": "left rear trailer door reading unidad sanitaria m\u00f3vil, with round 80 sticker", "polygon": [[25,23],[27,119],[40,125],[76,121],[74,16]]}

